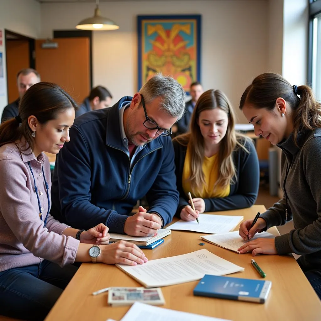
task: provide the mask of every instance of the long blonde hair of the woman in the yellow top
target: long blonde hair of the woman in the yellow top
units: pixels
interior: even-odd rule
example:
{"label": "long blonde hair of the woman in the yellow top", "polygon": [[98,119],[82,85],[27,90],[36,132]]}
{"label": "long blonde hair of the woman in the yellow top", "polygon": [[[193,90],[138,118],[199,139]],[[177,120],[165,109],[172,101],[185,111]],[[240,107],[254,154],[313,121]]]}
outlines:
{"label": "long blonde hair of the woman in the yellow top", "polygon": [[[197,100],[195,105],[191,122],[190,131],[186,134],[179,135],[173,139],[183,146],[188,146],[191,153],[191,176],[190,183],[192,192],[202,191],[202,186],[206,184],[202,164],[205,156],[204,137],[201,133],[197,120],[202,111],[208,109],[221,108],[228,115],[229,123],[225,136],[220,142],[219,150],[219,176],[214,188],[220,186],[227,187],[237,180],[235,166],[233,162],[233,151],[239,147],[244,147],[246,136],[236,133],[234,129],[235,115],[233,108],[231,108],[230,101],[225,94],[220,90],[205,91]],[[243,137],[243,139],[241,139]]]}

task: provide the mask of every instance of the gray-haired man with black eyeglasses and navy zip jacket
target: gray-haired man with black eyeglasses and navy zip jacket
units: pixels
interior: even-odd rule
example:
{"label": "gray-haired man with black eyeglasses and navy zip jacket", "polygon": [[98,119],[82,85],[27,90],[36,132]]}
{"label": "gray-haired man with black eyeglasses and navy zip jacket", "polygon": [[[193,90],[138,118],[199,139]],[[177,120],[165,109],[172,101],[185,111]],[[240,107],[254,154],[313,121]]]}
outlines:
{"label": "gray-haired man with black eyeglasses and navy zip jacket", "polygon": [[[77,117],[57,155],[50,213],[75,228],[104,223],[132,236],[168,224],[179,198],[169,135],[184,109],[181,85],[158,74],[134,97]],[[130,215],[145,195],[148,211]]]}

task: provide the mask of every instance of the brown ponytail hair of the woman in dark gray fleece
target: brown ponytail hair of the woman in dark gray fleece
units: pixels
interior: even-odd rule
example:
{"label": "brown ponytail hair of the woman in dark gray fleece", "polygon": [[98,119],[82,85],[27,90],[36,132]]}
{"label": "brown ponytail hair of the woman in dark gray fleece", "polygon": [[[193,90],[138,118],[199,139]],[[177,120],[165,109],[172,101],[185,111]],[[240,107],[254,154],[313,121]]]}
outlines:
{"label": "brown ponytail hair of the woman in dark gray fleece", "polygon": [[291,86],[279,74],[261,74],[243,92],[239,108],[252,104],[255,108],[273,110],[276,100],[283,98],[292,109],[293,140],[296,143],[301,129],[313,130],[321,127],[321,105],[316,101],[310,87],[298,86],[297,92],[295,89],[295,86]]}

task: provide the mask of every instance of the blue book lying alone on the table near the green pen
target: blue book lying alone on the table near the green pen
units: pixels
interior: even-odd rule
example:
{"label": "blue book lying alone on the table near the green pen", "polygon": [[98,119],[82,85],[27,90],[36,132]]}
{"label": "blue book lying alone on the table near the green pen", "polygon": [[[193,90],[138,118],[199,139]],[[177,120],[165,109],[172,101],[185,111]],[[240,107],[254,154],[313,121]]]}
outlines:
{"label": "blue book lying alone on the table near the green pen", "polygon": [[264,303],[271,286],[271,281],[205,274],[193,293],[204,297]]}

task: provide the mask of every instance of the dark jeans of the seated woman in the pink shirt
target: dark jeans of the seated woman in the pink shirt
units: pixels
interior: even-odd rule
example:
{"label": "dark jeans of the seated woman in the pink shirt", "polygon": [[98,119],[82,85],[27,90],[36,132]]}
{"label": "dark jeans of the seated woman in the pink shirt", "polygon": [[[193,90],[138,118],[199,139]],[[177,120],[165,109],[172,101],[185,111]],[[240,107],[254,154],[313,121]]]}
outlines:
{"label": "dark jeans of the seated woman in the pink shirt", "polygon": [[0,314],[23,320],[43,320],[77,272],[74,265],[40,264],[0,272]]}

